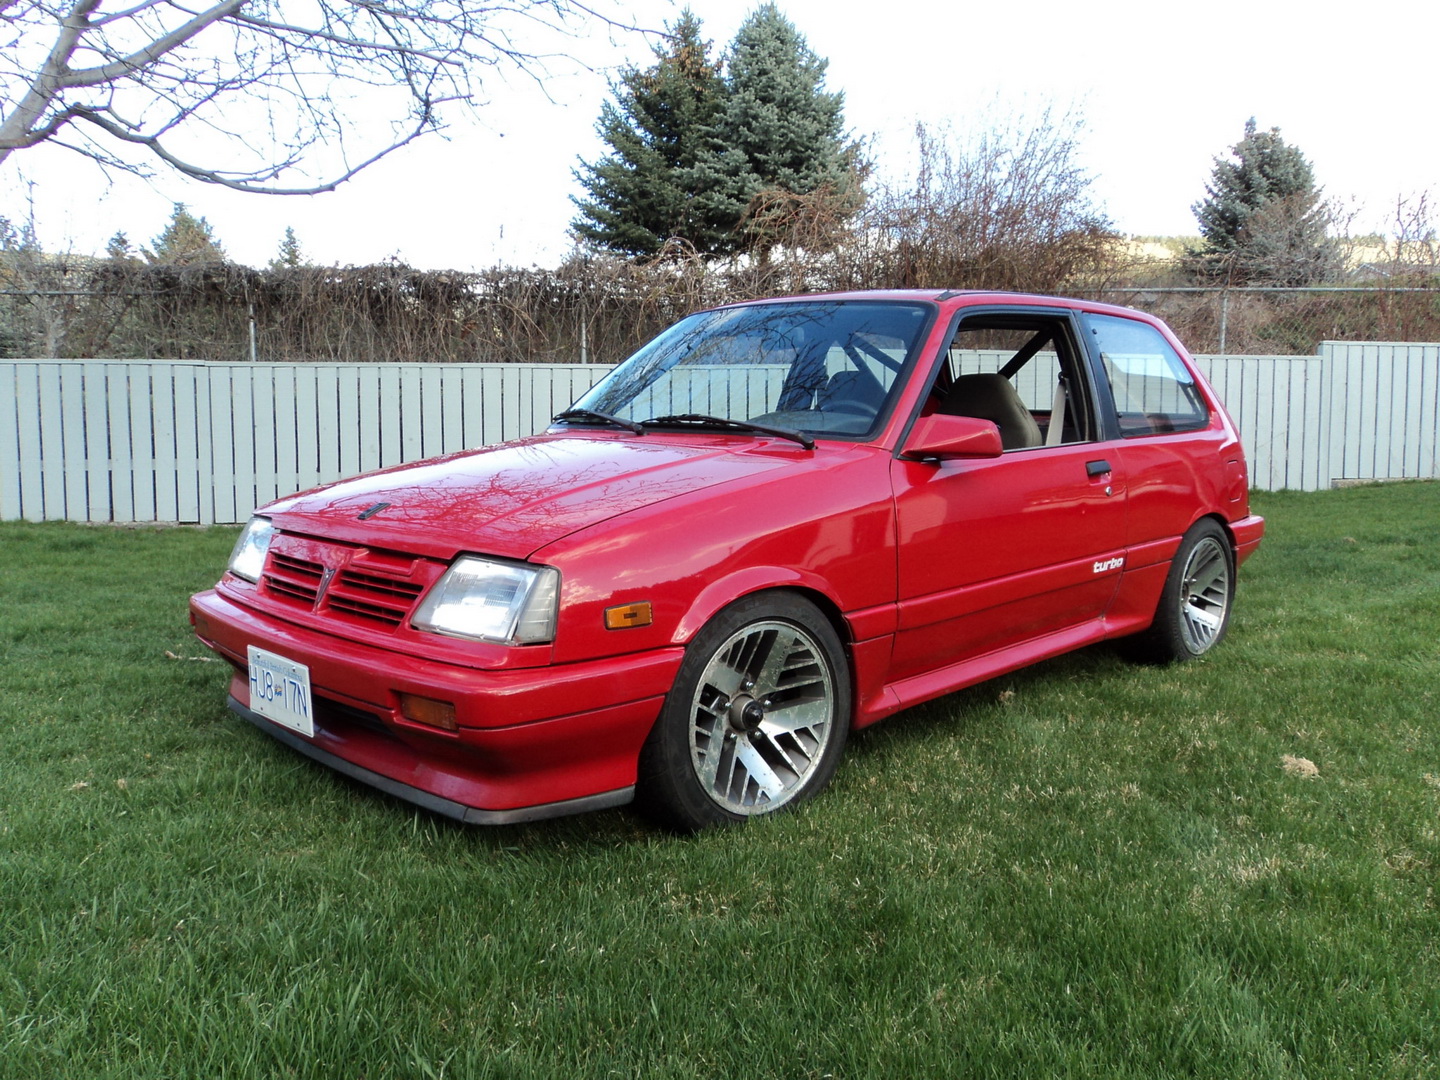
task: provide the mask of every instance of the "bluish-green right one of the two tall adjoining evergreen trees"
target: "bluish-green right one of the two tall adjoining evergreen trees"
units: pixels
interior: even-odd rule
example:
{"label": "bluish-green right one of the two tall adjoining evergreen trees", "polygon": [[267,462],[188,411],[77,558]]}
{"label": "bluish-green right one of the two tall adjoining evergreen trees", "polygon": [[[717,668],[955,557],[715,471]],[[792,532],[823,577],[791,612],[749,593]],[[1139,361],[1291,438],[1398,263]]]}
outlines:
{"label": "bluish-green right one of the two tall adjoining evergreen trees", "polygon": [[775,4],[730,43],[724,112],[696,187],[713,216],[744,222],[734,239],[762,258],[796,200],[821,194],[835,219],[860,207],[858,154],[844,137],[844,94],[824,89],[827,66]]}

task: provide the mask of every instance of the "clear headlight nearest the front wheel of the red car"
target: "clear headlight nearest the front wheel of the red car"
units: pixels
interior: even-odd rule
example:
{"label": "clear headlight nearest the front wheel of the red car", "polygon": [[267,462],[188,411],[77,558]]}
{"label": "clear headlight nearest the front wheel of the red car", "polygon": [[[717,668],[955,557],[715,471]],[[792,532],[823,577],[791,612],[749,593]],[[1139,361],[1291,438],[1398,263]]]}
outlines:
{"label": "clear headlight nearest the front wheel of the red car", "polygon": [[560,572],[552,566],[461,556],[410,619],[416,629],[455,638],[533,645],[554,638]]}

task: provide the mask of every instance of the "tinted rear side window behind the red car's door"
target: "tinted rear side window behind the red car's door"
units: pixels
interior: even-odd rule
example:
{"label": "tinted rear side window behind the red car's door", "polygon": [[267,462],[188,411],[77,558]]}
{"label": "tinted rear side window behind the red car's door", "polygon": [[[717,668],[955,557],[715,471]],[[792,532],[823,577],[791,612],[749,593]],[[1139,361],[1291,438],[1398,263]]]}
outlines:
{"label": "tinted rear side window behind the red car's door", "polygon": [[1185,363],[1152,325],[1115,315],[1086,315],[1110,380],[1120,435],[1194,431],[1210,409]]}

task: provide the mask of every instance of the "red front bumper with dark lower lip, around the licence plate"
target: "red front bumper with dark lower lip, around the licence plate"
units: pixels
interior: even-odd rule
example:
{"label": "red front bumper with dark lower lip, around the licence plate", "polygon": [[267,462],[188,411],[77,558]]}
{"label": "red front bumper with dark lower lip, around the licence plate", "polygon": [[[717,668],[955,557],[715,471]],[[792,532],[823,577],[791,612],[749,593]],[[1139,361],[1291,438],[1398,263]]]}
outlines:
{"label": "red front bumper with dark lower lip, around the licence plate", "polygon": [[[461,821],[505,824],[628,802],[639,750],[684,658],[665,648],[582,664],[481,670],[331,636],[215,590],[196,635],[235,667],[230,707],[346,775]],[[310,668],[315,736],[249,708],[246,647]],[[452,701],[459,730],[400,714],[399,694]]]}

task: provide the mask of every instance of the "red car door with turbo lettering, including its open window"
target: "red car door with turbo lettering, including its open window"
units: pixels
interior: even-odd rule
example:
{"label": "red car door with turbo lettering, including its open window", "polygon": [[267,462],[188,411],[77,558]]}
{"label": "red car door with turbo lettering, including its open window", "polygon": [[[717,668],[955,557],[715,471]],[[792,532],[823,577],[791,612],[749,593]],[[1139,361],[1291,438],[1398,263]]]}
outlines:
{"label": "red car door with turbo lettering, including its open window", "polygon": [[893,462],[893,681],[1103,616],[1125,566],[1126,478],[1077,341],[1064,311],[981,310],[937,357],[923,412],[994,420],[1005,451]]}

